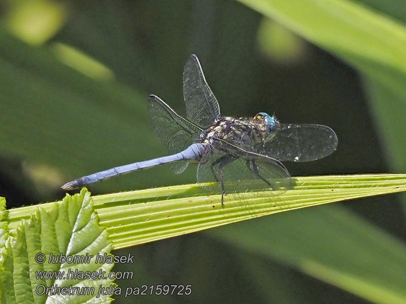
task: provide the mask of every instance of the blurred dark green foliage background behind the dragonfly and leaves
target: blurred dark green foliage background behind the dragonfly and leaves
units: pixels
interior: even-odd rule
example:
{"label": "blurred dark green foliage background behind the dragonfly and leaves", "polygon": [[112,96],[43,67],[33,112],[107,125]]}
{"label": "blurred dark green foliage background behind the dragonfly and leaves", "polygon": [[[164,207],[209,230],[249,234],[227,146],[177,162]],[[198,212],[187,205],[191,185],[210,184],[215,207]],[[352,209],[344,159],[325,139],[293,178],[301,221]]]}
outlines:
{"label": "blurred dark green foliage background behind the dragonfly and leaves", "polygon": [[[0,196],[9,208],[59,200],[73,178],[165,155],[147,97],[183,115],[182,71],[192,53],[223,115],[275,112],[282,123],[335,130],[337,151],[286,163],[292,176],[404,172],[405,11],[400,0],[3,0]],[[89,189],[195,182],[195,170],[153,168]],[[378,197],[117,250],[136,256],[127,265],[134,279],[117,283],[192,285],[191,296],[142,298],[154,303],[395,302],[370,286],[406,282],[389,254],[406,252],[405,211],[400,196]],[[322,275],[309,261],[359,270],[362,284]]]}

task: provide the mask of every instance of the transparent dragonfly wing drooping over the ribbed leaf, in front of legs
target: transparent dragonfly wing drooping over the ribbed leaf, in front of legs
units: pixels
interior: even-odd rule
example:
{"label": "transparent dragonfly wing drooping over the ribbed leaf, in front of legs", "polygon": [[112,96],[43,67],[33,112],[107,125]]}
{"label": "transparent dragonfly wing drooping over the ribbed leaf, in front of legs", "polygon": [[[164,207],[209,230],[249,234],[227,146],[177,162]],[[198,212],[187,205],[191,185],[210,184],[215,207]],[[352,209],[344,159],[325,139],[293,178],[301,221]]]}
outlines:
{"label": "transparent dragonfly wing drooping over the ribbed leaf, in front of legs", "polygon": [[291,185],[289,173],[278,161],[251,153],[241,157],[218,149],[208,150],[197,166],[197,182],[217,182],[209,187],[221,192],[223,178],[226,194],[247,191],[285,191]]}

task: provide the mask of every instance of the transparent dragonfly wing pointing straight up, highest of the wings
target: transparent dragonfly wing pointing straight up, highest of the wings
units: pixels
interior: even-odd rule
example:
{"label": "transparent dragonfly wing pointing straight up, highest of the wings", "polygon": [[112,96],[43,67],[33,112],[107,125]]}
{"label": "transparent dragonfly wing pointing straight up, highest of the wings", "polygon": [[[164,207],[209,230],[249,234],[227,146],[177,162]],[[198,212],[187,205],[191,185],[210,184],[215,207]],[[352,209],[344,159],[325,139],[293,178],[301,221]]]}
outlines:
{"label": "transparent dragonfly wing pointing straight up, highest of the wings", "polygon": [[208,128],[220,117],[217,99],[194,54],[186,61],[183,71],[183,98],[186,103],[186,118],[202,129]]}

